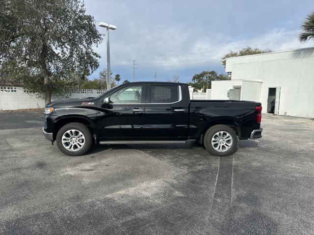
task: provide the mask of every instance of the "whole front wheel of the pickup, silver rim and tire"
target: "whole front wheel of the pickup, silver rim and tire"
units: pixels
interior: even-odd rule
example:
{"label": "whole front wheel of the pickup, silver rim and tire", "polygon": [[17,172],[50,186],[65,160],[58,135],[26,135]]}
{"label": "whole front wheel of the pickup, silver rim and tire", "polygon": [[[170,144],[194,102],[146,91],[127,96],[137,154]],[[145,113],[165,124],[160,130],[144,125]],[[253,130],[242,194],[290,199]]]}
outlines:
{"label": "whole front wheel of the pickup, silver rim and tire", "polygon": [[82,123],[69,123],[58,131],[56,142],[62,153],[69,156],[81,156],[92,146],[92,134]]}

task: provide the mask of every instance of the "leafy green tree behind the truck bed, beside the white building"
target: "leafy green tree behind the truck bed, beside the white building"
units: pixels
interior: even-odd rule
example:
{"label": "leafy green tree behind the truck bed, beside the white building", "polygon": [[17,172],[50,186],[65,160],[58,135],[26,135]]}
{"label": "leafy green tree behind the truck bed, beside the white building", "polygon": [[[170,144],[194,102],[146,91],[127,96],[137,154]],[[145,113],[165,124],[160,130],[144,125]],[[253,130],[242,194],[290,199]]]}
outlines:
{"label": "leafy green tree behind the truck bed, beside the white building", "polygon": [[228,76],[224,74],[217,74],[216,71],[203,71],[199,74],[196,74],[192,78],[192,82],[189,83],[192,87],[196,88],[197,90],[211,88],[211,81],[218,81],[218,80],[228,80]]}

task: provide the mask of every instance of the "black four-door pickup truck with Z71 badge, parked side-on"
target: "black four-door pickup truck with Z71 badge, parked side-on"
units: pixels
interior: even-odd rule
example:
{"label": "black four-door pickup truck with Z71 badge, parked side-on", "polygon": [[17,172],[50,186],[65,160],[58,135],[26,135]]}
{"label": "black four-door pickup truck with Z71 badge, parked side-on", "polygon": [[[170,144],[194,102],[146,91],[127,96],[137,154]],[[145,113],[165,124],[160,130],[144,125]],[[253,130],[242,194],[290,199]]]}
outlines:
{"label": "black four-door pickup truck with Z71 badge, parked side-on", "polygon": [[131,82],[98,97],[45,107],[45,137],[61,152],[85,154],[95,144],[204,144],[214,156],[235,153],[238,139],[262,137],[261,103],[190,100],[188,85]]}

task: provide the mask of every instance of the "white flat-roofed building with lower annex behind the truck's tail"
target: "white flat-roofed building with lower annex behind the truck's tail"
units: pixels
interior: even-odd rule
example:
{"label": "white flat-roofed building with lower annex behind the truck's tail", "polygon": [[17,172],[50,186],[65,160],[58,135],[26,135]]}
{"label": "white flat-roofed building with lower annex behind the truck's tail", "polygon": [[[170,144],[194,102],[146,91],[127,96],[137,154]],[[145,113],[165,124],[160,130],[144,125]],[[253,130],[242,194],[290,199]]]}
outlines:
{"label": "white flat-roofed building with lower annex behind the truck's tail", "polygon": [[314,47],[227,58],[227,81],[213,81],[211,100],[261,102],[263,112],[314,117]]}

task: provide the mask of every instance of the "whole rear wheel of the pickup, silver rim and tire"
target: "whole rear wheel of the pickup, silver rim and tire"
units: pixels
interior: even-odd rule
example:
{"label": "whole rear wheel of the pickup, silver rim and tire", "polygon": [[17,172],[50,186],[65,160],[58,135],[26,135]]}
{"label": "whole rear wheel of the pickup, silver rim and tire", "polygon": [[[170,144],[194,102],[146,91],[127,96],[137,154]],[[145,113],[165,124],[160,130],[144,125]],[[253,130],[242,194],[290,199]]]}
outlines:
{"label": "whole rear wheel of the pickup, silver rim and tire", "polygon": [[232,128],[225,125],[215,125],[206,131],[204,145],[210,154],[226,157],[235,153],[237,136]]}

